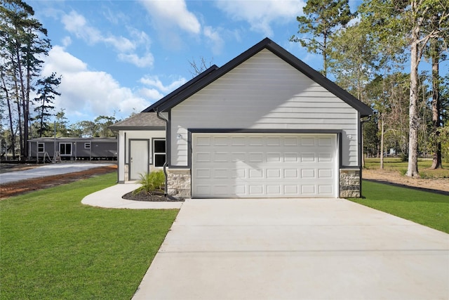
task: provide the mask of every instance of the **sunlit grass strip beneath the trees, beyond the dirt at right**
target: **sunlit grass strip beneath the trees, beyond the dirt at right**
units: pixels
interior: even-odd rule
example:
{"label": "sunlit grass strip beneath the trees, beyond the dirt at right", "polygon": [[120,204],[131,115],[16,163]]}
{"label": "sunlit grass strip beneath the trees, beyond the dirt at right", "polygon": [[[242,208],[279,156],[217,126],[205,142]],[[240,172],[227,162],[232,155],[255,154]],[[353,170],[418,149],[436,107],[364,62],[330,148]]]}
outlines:
{"label": "sunlit grass strip beneath the trees, beyond the dirt at right", "polygon": [[[449,166],[444,164],[445,169],[429,169],[432,165],[431,159],[418,159],[418,171],[422,178],[449,178]],[[366,169],[379,169],[380,158],[366,158]],[[384,170],[398,171],[402,175],[406,174],[408,162],[403,162],[400,158],[384,158]]]}

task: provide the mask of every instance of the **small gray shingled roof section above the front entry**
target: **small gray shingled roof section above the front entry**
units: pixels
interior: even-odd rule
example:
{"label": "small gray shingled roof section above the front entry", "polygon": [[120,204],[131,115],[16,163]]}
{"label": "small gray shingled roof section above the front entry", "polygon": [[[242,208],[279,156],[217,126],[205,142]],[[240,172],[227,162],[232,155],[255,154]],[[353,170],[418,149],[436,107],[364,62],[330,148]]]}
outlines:
{"label": "small gray shingled roof section above the front entry", "polygon": [[110,129],[116,130],[165,130],[166,122],[159,119],[156,112],[140,112],[133,117],[116,122],[109,126]]}

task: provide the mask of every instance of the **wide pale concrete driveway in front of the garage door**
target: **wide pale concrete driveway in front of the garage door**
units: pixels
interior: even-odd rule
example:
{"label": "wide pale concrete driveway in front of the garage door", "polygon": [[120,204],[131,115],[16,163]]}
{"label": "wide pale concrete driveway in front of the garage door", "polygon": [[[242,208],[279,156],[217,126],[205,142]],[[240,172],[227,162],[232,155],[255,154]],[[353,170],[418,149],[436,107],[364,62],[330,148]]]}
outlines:
{"label": "wide pale concrete driveway in front of the garage door", "polygon": [[340,199],[187,200],[133,299],[449,299],[449,235]]}

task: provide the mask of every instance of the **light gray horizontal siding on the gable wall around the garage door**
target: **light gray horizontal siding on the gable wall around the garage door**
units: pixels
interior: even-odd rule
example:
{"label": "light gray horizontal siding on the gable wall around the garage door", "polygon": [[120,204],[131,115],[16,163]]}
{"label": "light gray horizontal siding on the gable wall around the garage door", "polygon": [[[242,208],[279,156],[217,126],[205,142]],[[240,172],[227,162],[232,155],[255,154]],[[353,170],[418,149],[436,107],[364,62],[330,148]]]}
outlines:
{"label": "light gray horizontal siding on the gable wall around the garage door", "polygon": [[201,128],[342,130],[341,163],[358,165],[357,111],[266,49],[173,107],[171,120],[173,166],[187,166],[187,129]]}

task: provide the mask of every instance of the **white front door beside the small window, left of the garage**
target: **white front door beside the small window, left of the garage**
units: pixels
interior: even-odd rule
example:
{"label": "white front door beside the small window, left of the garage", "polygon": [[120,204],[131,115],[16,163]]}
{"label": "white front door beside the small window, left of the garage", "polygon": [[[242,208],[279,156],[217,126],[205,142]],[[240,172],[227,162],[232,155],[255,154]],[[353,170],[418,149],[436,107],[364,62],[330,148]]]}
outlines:
{"label": "white front door beside the small window, left of the garage", "polygon": [[130,140],[129,153],[129,180],[138,180],[140,174],[146,174],[149,171],[149,141]]}

